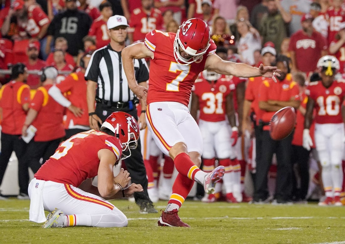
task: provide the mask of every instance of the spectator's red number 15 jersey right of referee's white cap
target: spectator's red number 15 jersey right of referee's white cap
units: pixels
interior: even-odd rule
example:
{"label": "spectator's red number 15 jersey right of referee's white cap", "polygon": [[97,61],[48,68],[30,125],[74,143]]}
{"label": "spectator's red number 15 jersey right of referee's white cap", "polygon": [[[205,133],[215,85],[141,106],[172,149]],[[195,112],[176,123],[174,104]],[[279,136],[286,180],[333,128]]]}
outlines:
{"label": "spectator's red number 15 jersey right of referee's white cap", "polygon": [[144,40],[147,33],[155,29],[161,29],[162,24],[162,14],[156,8],[152,8],[149,15],[142,8],[133,10],[129,24],[130,31],[133,33],[133,41]]}

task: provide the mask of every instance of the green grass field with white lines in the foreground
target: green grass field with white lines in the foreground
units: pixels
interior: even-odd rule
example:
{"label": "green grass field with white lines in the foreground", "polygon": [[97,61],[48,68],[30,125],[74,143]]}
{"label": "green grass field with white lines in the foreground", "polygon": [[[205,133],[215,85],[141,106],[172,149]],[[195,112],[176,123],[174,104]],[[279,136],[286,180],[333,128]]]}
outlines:
{"label": "green grass field with white lines in the foreground", "polygon": [[28,221],[29,200],[0,201],[0,243],[345,243],[345,207],[186,201],[179,216],[191,228],[172,228],[158,227],[160,214],[139,214],[127,200],[112,203],[128,227],[42,229]]}

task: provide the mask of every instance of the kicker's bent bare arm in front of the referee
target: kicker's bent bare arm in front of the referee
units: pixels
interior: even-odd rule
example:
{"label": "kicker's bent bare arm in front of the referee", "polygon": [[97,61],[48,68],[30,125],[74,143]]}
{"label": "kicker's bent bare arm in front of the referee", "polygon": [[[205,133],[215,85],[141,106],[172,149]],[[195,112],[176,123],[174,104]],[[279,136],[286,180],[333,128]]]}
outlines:
{"label": "kicker's bent bare arm in front of the referee", "polygon": [[154,53],[145,46],[144,42],[139,42],[125,47],[121,51],[121,57],[129,88],[138,98],[146,99],[147,88],[139,86],[135,79],[133,59],[153,58]]}

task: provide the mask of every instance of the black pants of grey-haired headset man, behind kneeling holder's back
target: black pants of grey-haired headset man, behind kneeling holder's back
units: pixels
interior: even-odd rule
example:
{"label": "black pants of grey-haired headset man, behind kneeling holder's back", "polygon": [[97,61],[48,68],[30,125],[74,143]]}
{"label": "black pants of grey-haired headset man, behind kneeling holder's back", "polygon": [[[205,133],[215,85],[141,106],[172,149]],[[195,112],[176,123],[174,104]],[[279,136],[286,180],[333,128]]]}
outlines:
{"label": "black pants of grey-haired headset man, behind kneeling holder's back", "polygon": [[30,167],[32,172],[36,172],[41,167],[40,160],[43,158],[44,164],[51,155],[53,155],[61,143],[61,139],[55,139],[51,141],[34,141],[31,140],[28,145],[28,149],[24,155],[26,167]]}

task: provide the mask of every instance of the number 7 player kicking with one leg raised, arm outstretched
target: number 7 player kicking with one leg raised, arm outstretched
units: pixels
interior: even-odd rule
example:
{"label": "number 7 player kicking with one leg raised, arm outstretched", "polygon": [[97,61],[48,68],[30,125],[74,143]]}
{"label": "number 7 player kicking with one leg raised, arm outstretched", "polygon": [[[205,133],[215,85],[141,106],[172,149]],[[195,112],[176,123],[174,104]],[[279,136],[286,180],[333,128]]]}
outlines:
{"label": "number 7 player kicking with one leg raised, arm outstretched", "polygon": [[[213,193],[215,182],[224,175],[224,166],[206,174],[199,169],[203,141],[196,121],[189,114],[188,101],[198,74],[204,69],[239,77],[279,76],[277,67],[251,67],[224,61],[216,54],[207,24],[201,19],[185,21],[177,33],[153,30],[145,41],[122,50],[122,63],[129,88],[146,99],[146,120],[157,145],[175,163],[179,174],[172,195],[159,218],[160,226],[184,226],[178,209],[185,201],[194,180]],[[149,90],[139,86],[134,76],[133,59],[151,58]]]}

